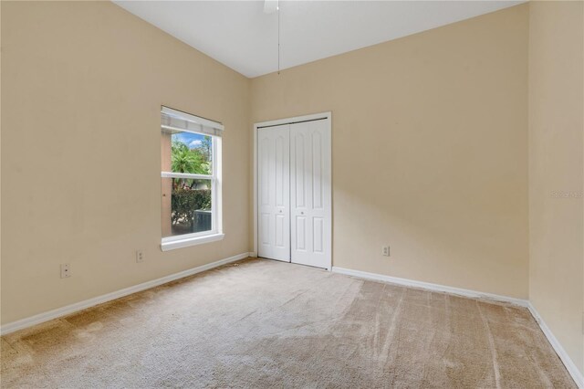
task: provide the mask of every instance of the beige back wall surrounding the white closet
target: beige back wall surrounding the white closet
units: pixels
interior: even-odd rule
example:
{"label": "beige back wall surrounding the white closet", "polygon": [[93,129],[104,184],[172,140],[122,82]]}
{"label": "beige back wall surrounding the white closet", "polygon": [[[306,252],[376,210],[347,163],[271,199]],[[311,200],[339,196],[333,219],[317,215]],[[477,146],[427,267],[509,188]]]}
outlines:
{"label": "beige back wall surrounding the white closet", "polygon": [[252,80],[252,122],[332,110],[333,266],[527,298],[527,16]]}

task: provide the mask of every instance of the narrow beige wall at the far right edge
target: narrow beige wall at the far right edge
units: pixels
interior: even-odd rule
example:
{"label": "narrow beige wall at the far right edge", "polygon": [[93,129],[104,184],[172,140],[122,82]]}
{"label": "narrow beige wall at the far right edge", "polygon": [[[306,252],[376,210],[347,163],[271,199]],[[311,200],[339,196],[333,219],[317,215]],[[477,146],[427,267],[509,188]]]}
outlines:
{"label": "narrow beige wall at the far right edge", "polygon": [[584,373],[584,4],[529,11],[529,298]]}

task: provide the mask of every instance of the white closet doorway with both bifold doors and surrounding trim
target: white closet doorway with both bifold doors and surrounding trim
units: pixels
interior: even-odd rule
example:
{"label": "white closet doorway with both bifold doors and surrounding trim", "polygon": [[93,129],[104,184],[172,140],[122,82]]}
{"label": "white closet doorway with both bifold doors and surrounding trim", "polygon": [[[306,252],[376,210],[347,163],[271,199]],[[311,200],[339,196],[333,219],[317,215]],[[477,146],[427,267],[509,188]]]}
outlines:
{"label": "white closet doorway with both bifold doors and surrounding trim", "polygon": [[330,112],[254,125],[254,251],[331,268]]}

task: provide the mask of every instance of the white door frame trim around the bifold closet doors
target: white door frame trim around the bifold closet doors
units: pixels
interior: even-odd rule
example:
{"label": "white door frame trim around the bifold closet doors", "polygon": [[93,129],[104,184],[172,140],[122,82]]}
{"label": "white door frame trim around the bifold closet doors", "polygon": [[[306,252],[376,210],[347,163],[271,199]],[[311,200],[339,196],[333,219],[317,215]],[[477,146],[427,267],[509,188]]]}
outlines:
{"label": "white door frame trim around the bifold closet doors", "polygon": [[330,231],[330,242],[328,242],[328,247],[330,247],[330,257],[329,257],[329,263],[328,263],[328,271],[332,271],[332,218],[333,218],[333,214],[332,214],[332,111],[327,111],[327,112],[320,112],[320,113],[313,113],[310,115],[303,115],[303,116],[294,116],[291,118],[285,118],[285,119],[277,119],[274,121],[258,121],[256,123],[254,123],[254,170],[253,170],[253,175],[254,175],[254,201],[253,201],[253,208],[254,208],[254,227],[252,230],[252,234],[253,234],[253,241],[254,241],[254,247],[253,247],[253,252],[250,254],[253,254],[254,257],[257,257],[257,238],[259,236],[258,231],[257,231],[257,209],[258,209],[258,205],[257,205],[257,130],[260,128],[264,128],[264,127],[273,127],[273,126],[278,126],[278,125],[282,125],[282,124],[293,124],[293,123],[297,123],[297,122],[301,122],[301,121],[318,121],[318,120],[326,120],[327,124],[328,124],[328,132],[330,133],[330,163],[328,163],[328,177],[330,179],[330,182],[328,183],[330,186],[330,198],[328,201],[328,215],[330,215],[330,218],[328,220],[328,230]]}

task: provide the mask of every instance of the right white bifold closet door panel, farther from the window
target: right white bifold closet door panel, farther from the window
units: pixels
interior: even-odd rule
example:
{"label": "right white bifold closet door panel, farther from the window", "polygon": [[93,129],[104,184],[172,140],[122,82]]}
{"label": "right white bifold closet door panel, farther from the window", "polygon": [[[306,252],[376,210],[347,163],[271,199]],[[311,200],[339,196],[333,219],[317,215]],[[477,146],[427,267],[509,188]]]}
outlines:
{"label": "right white bifold closet door panel, farther from the window", "polygon": [[330,265],[330,134],[328,121],[290,125],[291,260]]}

